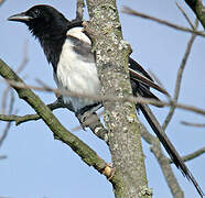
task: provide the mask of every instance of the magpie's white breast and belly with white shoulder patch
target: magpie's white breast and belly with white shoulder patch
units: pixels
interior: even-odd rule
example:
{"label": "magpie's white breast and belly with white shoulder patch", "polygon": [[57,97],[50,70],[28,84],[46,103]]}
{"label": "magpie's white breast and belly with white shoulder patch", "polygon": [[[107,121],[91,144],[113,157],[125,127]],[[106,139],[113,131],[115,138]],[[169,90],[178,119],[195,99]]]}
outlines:
{"label": "magpie's white breast and belly with white shoulder patch", "polygon": [[[77,30],[75,31],[78,31],[78,35],[85,41],[87,36],[80,33],[82,28],[76,29]],[[69,40],[66,40],[63,45],[60,62],[57,64],[57,70],[56,74],[54,74],[54,79],[60,89],[68,90],[74,94],[96,96],[100,90],[96,64],[80,59],[76,52],[73,51],[73,43]],[[66,96],[63,97],[63,99],[64,102],[72,103],[75,111],[84,108],[85,106],[95,103],[95,101],[90,99],[78,97]]]}

